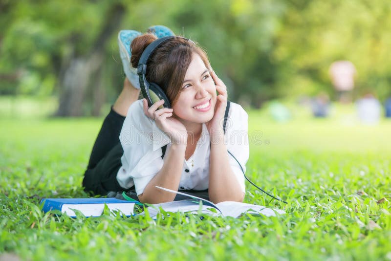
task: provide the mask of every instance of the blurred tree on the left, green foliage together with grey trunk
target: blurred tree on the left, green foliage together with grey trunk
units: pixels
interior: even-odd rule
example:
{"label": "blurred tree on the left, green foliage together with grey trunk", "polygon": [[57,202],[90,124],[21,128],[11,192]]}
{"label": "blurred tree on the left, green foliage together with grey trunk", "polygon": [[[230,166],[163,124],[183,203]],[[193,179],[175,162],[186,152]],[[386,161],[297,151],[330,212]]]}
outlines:
{"label": "blurred tree on the left, green foliage together with grey trunk", "polygon": [[[126,11],[121,1],[69,0],[7,3],[10,26],[0,39],[2,78],[19,77],[19,86],[3,93],[59,95],[58,116],[86,114],[87,88],[94,95],[92,110],[102,99],[101,72],[106,44],[117,32]],[[5,73],[4,73],[5,72]],[[4,77],[4,75],[6,77]],[[14,77],[14,78],[15,78]],[[92,79],[93,85],[92,85]],[[44,84],[48,86],[45,87]],[[50,87],[49,87],[50,86]],[[58,88],[54,89],[54,86]],[[99,103],[99,104],[97,104]]]}

